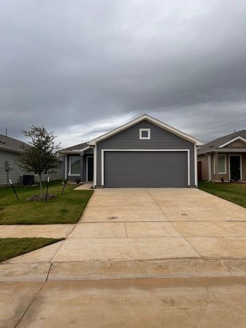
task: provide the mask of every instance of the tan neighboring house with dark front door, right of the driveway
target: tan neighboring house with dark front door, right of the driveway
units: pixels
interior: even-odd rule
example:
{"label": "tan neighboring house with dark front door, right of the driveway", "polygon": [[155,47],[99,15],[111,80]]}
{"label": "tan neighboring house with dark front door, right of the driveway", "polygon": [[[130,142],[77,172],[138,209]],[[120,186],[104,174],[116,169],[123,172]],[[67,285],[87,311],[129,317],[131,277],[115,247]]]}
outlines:
{"label": "tan neighboring house with dark front door, right of the driveway", "polygon": [[246,180],[246,130],[208,142],[197,155],[202,180]]}

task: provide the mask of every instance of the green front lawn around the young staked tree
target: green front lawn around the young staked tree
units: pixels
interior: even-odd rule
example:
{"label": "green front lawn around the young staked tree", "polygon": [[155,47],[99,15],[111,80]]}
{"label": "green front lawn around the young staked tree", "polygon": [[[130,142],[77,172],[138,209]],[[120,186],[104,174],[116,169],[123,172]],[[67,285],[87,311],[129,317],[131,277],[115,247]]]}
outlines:
{"label": "green front lawn around the young staked tree", "polygon": [[60,180],[51,181],[49,193],[56,198],[45,201],[26,200],[38,194],[39,187],[16,186],[19,200],[11,186],[0,188],[0,224],[54,224],[76,223],[83,213],[93,190],[73,190],[76,186],[67,185],[63,195]]}

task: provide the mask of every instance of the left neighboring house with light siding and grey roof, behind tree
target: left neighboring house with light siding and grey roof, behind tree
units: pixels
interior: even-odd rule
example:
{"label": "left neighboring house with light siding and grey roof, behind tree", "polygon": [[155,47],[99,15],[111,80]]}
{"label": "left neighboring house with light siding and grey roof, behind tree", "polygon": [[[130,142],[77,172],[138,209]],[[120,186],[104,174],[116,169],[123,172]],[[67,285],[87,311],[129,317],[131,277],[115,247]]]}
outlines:
{"label": "left neighboring house with light siding and grey roof, behind tree", "polygon": [[[13,183],[21,183],[24,174],[33,174],[23,172],[16,163],[16,159],[22,153],[24,147],[28,146],[26,142],[0,134],[0,186],[8,185],[8,179],[11,179]],[[61,179],[62,160],[59,160],[59,162],[61,165],[57,172],[49,174],[51,180]],[[47,175],[44,175],[44,179],[46,178]],[[38,176],[35,175],[35,181],[37,180]]]}

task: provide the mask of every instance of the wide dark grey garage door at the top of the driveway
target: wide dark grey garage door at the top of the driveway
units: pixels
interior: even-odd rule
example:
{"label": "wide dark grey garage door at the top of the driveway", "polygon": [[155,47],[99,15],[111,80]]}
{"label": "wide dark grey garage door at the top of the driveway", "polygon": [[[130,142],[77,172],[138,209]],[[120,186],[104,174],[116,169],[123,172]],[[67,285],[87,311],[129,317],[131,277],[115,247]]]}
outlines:
{"label": "wide dark grey garage door at the top of the driveway", "polygon": [[105,187],[187,187],[187,152],[105,151]]}

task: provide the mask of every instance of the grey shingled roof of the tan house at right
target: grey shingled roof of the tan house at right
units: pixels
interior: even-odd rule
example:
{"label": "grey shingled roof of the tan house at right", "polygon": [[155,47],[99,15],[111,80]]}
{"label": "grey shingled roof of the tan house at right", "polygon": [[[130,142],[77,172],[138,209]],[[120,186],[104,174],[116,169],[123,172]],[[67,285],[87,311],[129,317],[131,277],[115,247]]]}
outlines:
{"label": "grey shingled roof of the tan house at right", "polygon": [[237,139],[240,140],[240,138],[246,139],[246,130],[240,130],[208,142],[197,150],[197,155],[221,151],[221,147],[227,146]]}

